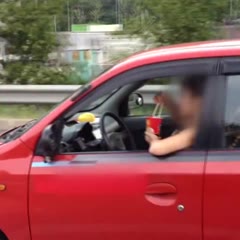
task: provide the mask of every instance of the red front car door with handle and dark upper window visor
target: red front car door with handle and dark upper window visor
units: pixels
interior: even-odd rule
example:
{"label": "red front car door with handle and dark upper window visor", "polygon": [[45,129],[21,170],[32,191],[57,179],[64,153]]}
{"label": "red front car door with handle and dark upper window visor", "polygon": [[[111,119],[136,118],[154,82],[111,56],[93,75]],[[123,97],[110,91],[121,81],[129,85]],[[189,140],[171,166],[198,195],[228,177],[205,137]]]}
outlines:
{"label": "red front car door with handle and dark upper window visor", "polygon": [[[195,69],[214,75],[217,69],[215,59],[172,64],[163,64],[165,76]],[[134,69],[123,79],[164,76],[161,66]],[[79,152],[44,163],[36,155],[29,187],[32,239],[202,239],[206,151],[200,147],[161,158],[141,151]]]}

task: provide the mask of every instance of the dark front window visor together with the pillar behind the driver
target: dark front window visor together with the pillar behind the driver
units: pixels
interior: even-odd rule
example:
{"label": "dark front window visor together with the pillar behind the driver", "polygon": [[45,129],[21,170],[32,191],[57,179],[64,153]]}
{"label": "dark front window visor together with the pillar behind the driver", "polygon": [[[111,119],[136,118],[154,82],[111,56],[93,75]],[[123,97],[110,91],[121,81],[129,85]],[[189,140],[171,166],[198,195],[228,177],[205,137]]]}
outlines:
{"label": "dark front window visor together with the pillar behind the driver", "polygon": [[[208,93],[204,96],[207,104],[205,105],[206,108],[204,108],[202,112],[200,124],[201,130],[199,131],[200,134],[196,140],[196,146],[197,149],[208,150],[209,148],[215,147],[214,136],[219,135],[219,117],[217,115],[219,112],[218,110],[215,109],[215,116],[212,117],[212,121],[209,121],[209,113],[213,113],[213,109],[216,105],[216,99],[209,96],[212,96],[213,94],[215,94],[216,97],[222,96],[221,94],[224,88],[222,85],[219,85],[219,83],[222,82],[220,79],[220,60],[221,58],[197,58],[154,63],[133,68],[126,72],[120,73],[119,75],[103,83],[97,89],[88,94],[86,98],[82,99],[81,102],[79,102],[78,108],[88,104],[89,101],[91,101],[93,98],[99,97],[100,94],[102,95],[106,92],[109,92],[110,89],[121,87],[130,82],[141,82],[151,78],[164,78],[172,76],[184,77],[191,74],[207,74],[208,76],[211,76],[211,83],[213,84],[211,84],[211,86],[207,86]],[[219,85],[219,91],[216,91],[216,85]],[[78,103],[76,103],[73,108],[70,109],[67,115],[69,115],[69,113],[75,109],[76,105],[78,105]],[[209,137],[209,133],[211,133],[212,137]]]}

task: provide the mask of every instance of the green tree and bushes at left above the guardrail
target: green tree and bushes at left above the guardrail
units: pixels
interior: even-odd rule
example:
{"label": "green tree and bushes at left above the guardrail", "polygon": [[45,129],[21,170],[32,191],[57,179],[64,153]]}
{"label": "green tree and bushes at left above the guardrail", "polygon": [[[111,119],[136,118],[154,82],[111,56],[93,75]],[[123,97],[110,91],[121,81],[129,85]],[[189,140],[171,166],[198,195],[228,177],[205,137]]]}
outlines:
{"label": "green tree and bushes at left above the guardrail", "polygon": [[0,4],[0,36],[14,60],[4,63],[3,83],[66,84],[67,71],[49,66],[49,54],[59,46],[54,33],[54,16],[61,1],[19,0]]}

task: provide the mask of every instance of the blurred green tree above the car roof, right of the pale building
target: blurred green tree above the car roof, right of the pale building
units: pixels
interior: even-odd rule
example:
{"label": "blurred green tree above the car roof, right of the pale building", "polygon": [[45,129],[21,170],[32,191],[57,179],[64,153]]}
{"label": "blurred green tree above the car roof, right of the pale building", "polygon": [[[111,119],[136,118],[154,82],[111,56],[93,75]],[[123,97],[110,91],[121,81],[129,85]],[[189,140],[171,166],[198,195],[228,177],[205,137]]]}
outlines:
{"label": "blurred green tree above the car roof, right of the pale building", "polygon": [[136,0],[134,8],[135,14],[124,19],[125,32],[162,45],[213,38],[228,1]]}

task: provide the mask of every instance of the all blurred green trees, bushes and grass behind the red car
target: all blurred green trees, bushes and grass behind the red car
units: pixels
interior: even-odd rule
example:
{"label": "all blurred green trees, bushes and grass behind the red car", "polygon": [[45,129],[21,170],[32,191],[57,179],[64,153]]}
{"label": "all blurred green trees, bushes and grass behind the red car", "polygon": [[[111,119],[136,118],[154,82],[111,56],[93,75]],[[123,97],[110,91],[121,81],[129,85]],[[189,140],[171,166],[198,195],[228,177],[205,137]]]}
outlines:
{"label": "all blurred green trees, bushes and grass behind the red car", "polygon": [[[0,84],[82,84],[81,68],[49,58],[63,47],[57,32],[72,24],[120,23],[123,31],[115,34],[141,38],[147,49],[220,38],[216,29],[239,18],[238,6],[238,0],[0,0],[0,37],[9,56],[0,62]],[[0,117],[39,117],[49,108],[3,105]]]}

